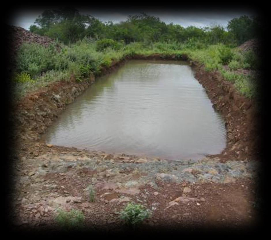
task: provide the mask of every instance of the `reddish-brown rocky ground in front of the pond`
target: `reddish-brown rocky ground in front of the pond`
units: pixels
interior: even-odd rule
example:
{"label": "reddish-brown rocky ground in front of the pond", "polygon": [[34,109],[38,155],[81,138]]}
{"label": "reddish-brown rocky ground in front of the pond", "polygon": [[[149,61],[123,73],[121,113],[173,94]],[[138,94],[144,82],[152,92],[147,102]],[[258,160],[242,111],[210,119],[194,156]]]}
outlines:
{"label": "reddish-brown rocky ground in front of the pond", "polygon": [[36,143],[22,146],[13,168],[16,229],[52,229],[61,208],[82,211],[88,229],[118,231],[119,212],[130,202],[152,211],[146,229],[238,228],[259,218],[256,161],[160,160]]}

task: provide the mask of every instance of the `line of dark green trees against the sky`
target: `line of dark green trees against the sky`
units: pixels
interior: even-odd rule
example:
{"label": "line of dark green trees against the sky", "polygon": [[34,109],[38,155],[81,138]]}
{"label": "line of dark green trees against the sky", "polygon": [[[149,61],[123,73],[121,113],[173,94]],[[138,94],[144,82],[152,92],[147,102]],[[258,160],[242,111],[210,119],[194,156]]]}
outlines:
{"label": "line of dark green trees against the sky", "polygon": [[45,10],[30,31],[39,35],[58,39],[64,44],[72,44],[83,38],[94,40],[111,39],[129,44],[131,42],[193,42],[206,44],[238,45],[258,37],[263,31],[259,17],[241,16],[228,22],[227,28],[219,25],[212,27],[182,27],[166,24],[158,17],[145,13],[128,16],[120,23],[101,22],[91,15],[80,14],[72,7]]}

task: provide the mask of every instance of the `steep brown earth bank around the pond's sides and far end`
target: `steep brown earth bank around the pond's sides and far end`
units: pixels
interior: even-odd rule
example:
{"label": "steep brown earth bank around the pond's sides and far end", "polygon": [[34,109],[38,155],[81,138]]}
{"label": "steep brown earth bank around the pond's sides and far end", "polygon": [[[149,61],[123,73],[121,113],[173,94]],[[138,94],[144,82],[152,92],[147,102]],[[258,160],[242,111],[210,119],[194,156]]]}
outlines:
{"label": "steep brown earth bank around the pond's sides and far end", "polygon": [[[259,132],[257,123],[259,117],[255,111],[253,100],[240,95],[234,85],[224,80],[219,72],[207,72],[204,65],[193,62],[186,55],[134,55],[127,56],[121,61],[113,62],[103,67],[97,76],[109,74],[126,60],[184,60],[190,61],[195,71],[195,78],[202,84],[210,98],[213,107],[221,113],[227,129],[227,145],[221,154],[208,155],[219,157],[221,162],[227,160],[258,160],[257,149]],[[97,77],[96,76],[96,77]],[[25,140],[19,145],[27,144],[33,152],[39,135],[44,133],[65,107],[73,102],[87,87],[95,82],[95,76],[90,76],[82,82],[76,82],[73,76],[70,81],[60,81],[28,94],[15,106],[14,130],[16,138]],[[46,147],[46,145],[44,145]],[[22,148],[24,148],[22,146]]]}

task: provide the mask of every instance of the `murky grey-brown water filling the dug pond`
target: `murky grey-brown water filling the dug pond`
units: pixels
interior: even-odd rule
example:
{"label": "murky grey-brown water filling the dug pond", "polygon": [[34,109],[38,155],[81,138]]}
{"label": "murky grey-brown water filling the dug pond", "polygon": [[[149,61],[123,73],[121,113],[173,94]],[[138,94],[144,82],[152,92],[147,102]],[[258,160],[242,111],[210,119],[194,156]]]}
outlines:
{"label": "murky grey-brown water filling the dug pond", "polygon": [[181,61],[131,60],[98,78],[42,139],[167,159],[199,159],[226,146],[221,116]]}

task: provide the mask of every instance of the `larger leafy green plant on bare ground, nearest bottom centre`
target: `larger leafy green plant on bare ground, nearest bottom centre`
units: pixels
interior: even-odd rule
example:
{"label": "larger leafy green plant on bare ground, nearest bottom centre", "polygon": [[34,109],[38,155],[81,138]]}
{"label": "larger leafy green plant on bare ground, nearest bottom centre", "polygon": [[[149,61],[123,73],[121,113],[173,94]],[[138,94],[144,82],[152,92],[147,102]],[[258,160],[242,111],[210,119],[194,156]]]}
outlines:
{"label": "larger leafy green plant on bare ground, nearest bottom centre", "polygon": [[120,212],[120,217],[128,226],[135,227],[148,218],[150,214],[150,210],[141,204],[128,203],[125,209]]}

